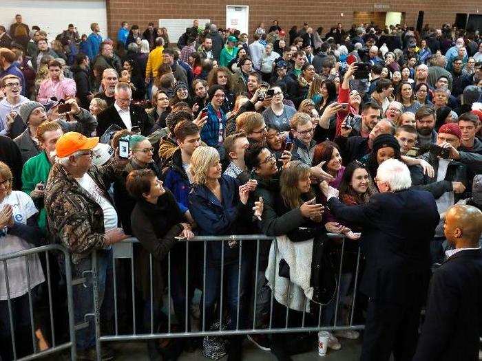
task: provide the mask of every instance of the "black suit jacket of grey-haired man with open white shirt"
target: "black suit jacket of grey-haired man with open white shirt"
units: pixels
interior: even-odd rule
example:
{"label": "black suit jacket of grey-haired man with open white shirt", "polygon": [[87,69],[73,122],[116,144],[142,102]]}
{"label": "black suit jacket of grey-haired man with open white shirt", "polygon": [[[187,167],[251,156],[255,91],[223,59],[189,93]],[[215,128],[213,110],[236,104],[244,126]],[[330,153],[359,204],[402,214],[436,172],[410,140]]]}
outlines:
{"label": "black suit jacket of grey-haired man with open white shirt", "polygon": [[[145,110],[131,105],[129,107],[129,111],[131,113],[132,127],[137,125],[140,127],[140,133],[142,135],[149,135],[149,130],[152,128],[153,124],[150,124],[149,126],[149,120],[147,120],[147,113]],[[119,113],[114,105],[111,105],[107,109],[101,111],[101,113],[99,113],[97,116],[97,122],[97,135],[99,137],[101,137],[107,128],[109,128],[112,124],[116,124],[122,129],[126,129],[125,124],[122,121],[121,116],[119,116]]]}

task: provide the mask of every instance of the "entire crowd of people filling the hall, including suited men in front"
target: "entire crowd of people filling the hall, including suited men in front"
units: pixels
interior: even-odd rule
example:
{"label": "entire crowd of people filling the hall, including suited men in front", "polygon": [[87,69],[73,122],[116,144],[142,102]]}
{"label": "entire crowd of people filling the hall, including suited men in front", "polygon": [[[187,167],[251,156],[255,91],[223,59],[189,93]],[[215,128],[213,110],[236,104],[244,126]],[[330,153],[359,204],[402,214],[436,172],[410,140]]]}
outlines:
{"label": "entire crowd of people filling the hall, including suited men in front", "polygon": [[[362,360],[476,358],[479,31],[373,23],[286,31],[273,21],[244,34],[196,20],[173,43],[154,23],[142,32],[124,21],[114,40],[98,23],[90,28],[79,36],[69,24],[49,41],[20,14],[10,31],[0,26],[0,255],[58,243],[81,278],[95,250],[104,333],[116,287],[124,333],[133,322],[142,333],[191,331],[199,318],[206,330],[343,326],[351,314],[366,324]],[[277,238],[256,245],[233,234]],[[203,249],[195,235],[226,240]],[[112,256],[131,236],[139,241],[132,281],[130,263]],[[12,333],[30,337],[31,319],[39,349],[52,346],[46,267],[54,314],[65,315],[63,264],[29,260],[0,267],[3,360],[13,358]],[[168,288],[176,323],[163,311]],[[79,324],[94,307],[92,280],[73,291]],[[54,327],[59,343],[65,328]],[[76,330],[79,360],[95,359],[95,334],[93,321]],[[328,347],[359,337],[330,332]],[[278,360],[313,349],[312,333],[247,338]],[[202,347],[233,361],[243,340],[169,338],[147,349],[151,360]],[[17,357],[32,353],[29,343],[17,342]],[[112,349],[101,358],[114,358]]]}

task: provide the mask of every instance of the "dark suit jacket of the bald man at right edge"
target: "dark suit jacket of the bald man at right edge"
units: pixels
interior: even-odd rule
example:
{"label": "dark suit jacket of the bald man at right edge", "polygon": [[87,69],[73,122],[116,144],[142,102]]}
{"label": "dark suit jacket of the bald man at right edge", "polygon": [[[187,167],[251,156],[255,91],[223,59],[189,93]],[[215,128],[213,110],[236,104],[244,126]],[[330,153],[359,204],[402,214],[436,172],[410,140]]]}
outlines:
{"label": "dark suit jacket of the bald man at right edge", "polygon": [[435,271],[413,361],[474,361],[482,335],[482,253],[463,250]]}

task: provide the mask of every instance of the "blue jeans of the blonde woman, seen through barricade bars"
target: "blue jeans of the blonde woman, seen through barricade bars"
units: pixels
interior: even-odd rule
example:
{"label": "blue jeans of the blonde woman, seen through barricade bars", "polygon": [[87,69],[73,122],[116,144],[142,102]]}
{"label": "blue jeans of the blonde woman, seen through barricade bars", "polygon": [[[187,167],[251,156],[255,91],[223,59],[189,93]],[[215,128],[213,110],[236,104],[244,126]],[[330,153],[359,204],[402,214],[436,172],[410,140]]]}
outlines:
{"label": "blue jeans of the blonde woman, seen through barricade bars", "polygon": [[[240,294],[238,296],[238,276],[239,269],[241,269],[240,275]],[[228,325],[228,329],[236,329],[236,320],[238,315],[238,300],[240,308],[239,327],[243,329],[247,327],[247,313],[246,313],[246,283],[248,276],[247,257],[242,255],[241,267],[238,267],[238,262],[225,264],[222,270],[224,277],[224,287],[222,300],[223,305],[227,303],[227,309],[231,322]],[[211,325],[218,320],[218,315],[214,315],[214,306],[216,300],[220,300],[221,289],[221,265],[207,265],[206,267],[206,289],[204,297],[206,298],[206,320],[205,327],[208,330]],[[224,296],[227,295],[227,296]],[[224,302],[224,300],[226,300]],[[202,311],[202,300],[200,303],[200,309]],[[219,304],[218,304],[219,307]],[[219,314],[219,309],[216,312]]]}

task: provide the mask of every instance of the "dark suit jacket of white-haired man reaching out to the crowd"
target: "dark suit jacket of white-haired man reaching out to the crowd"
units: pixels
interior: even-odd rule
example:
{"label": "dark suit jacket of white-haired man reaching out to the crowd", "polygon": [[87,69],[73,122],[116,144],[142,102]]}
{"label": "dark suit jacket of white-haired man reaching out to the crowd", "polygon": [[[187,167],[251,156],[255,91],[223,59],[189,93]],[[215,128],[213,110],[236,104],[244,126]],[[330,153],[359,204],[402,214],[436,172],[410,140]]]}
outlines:
{"label": "dark suit jacket of white-haired man reaching out to the crowd", "polygon": [[424,190],[378,193],[366,205],[346,206],[332,197],[338,221],[361,226],[366,269],[360,291],[381,303],[419,305],[430,276],[430,241],[439,223],[432,194]]}

